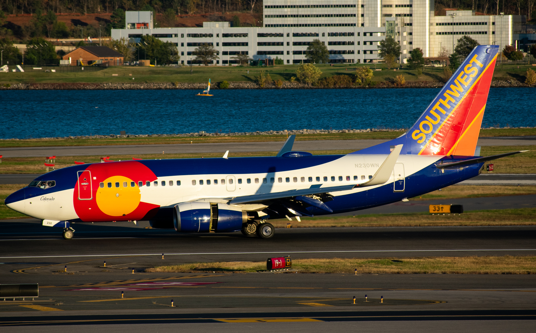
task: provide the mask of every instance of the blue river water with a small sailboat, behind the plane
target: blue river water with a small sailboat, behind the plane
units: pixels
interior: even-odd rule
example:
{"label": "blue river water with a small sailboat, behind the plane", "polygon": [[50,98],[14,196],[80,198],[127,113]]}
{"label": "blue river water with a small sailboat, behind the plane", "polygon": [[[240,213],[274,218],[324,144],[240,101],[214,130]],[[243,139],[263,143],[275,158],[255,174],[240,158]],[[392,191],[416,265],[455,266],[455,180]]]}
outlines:
{"label": "blue river water with a small sailboat, behind the plane", "polygon": [[[408,128],[440,89],[0,90],[0,138]],[[482,126],[536,126],[536,89],[492,88]]]}

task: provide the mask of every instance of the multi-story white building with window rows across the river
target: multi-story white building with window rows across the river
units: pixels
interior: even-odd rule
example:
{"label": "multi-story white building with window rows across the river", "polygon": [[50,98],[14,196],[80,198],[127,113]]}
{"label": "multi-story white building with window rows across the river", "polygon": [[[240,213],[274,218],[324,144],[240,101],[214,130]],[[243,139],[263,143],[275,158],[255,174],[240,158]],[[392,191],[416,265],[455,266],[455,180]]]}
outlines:
{"label": "multi-story white building with window rows across the river", "polygon": [[111,36],[136,40],[151,34],[174,43],[185,64],[195,48],[211,43],[219,51],[214,62],[219,65],[235,63],[232,56],[240,52],[254,60],[306,62],[304,51],[313,39],[327,46],[331,62],[376,62],[379,42],[390,36],[400,43],[400,61],[406,63],[414,48],[425,57],[437,57],[442,47],[450,54],[464,35],[501,48],[515,44],[514,27],[522,16],[457,10],[435,16],[434,0],[265,0],[263,20],[263,27],[204,22],[203,28],[153,28],[152,12],[127,12],[125,29],[113,29]]}

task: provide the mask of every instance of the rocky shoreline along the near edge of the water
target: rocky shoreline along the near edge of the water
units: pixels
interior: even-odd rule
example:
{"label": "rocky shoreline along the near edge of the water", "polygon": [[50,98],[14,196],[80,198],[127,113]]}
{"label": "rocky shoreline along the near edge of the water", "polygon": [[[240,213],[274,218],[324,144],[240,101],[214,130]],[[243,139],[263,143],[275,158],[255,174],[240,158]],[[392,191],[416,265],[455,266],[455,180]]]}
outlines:
{"label": "rocky shoreline along the near edge of the water", "polygon": [[[482,127],[481,130],[493,130],[495,128],[536,128],[536,127]],[[367,128],[365,130],[283,130],[283,131],[257,131],[257,132],[229,132],[229,133],[176,133],[176,134],[126,134],[126,135],[79,135],[77,137],[54,137],[36,139],[112,139],[112,138],[155,138],[155,137],[235,137],[237,135],[291,135],[291,134],[327,134],[327,133],[369,133],[369,132],[405,132],[407,128]],[[27,140],[27,139],[0,139],[3,140]],[[30,139],[32,140],[32,139]]]}

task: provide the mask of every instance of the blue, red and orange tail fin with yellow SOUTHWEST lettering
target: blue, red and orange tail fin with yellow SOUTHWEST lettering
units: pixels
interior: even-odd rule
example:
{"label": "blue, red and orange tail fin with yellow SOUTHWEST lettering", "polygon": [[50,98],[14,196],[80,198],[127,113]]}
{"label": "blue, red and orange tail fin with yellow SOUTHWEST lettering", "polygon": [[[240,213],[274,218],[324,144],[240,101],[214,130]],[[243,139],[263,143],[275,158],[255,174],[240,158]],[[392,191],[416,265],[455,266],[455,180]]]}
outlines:
{"label": "blue, red and orange tail fin with yellow SOUTHWEST lettering", "polygon": [[356,153],[388,154],[391,146],[404,143],[402,154],[473,156],[498,50],[497,45],[475,47],[410,130]]}

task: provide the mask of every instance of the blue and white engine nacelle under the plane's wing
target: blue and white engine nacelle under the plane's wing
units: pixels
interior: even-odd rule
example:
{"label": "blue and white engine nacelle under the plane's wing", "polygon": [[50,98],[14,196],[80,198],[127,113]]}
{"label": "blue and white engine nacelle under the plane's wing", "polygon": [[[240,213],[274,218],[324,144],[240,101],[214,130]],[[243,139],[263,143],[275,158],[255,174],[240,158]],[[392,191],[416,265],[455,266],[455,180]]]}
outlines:
{"label": "blue and white engine nacelle under the plane's wing", "polygon": [[173,210],[177,232],[233,232],[242,229],[248,214],[241,207],[225,203],[185,202]]}

